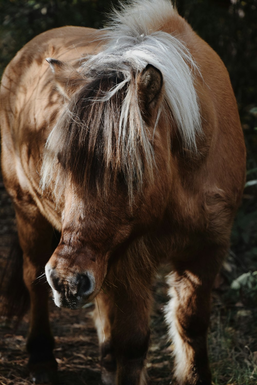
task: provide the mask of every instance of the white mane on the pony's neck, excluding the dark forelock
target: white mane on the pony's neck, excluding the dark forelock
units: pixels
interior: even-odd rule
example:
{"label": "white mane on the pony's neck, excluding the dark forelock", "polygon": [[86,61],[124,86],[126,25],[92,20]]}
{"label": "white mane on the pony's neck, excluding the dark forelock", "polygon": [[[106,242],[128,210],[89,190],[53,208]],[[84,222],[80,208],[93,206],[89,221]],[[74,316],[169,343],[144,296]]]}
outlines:
{"label": "white mane on the pony's neck, excluding the dark forelock", "polygon": [[[104,28],[106,39],[110,39],[106,49],[91,56],[84,65],[107,68],[111,63],[113,68],[116,62],[119,68],[123,62],[130,62],[136,72],[141,72],[148,63],[158,68],[163,75],[165,101],[183,144],[190,150],[197,150],[195,135],[202,128],[194,79],[200,75],[200,70],[185,43],[161,30],[174,13],[176,10],[169,0],[130,0],[128,5],[121,4],[121,10],[113,11],[109,26]],[[131,81],[130,74],[124,75],[122,85]],[[118,89],[120,87],[121,84]],[[106,99],[118,89],[111,90]],[[124,110],[129,110],[129,106],[124,106]],[[121,121],[123,119],[121,116]]]}

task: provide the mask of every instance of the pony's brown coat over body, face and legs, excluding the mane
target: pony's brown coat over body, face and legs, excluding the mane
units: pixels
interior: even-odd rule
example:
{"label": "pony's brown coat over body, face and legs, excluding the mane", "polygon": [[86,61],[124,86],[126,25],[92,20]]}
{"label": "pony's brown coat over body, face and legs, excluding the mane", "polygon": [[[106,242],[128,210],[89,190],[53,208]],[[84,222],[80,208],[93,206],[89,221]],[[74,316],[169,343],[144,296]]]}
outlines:
{"label": "pony's brown coat over body, face and legs, excluding the mane", "polygon": [[[83,95],[89,95],[92,83],[81,64],[87,55],[104,49],[106,32],[82,27],[44,32],[26,44],[4,72],[0,90],[2,171],[15,205],[24,253],[24,281],[32,303],[29,363],[39,380],[42,368],[37,366],[40,358],[35,341],[41,343],[45,336],[48,338],[44,354],[50,366],[46,365],[44,372],[55,368],[55,360],[45,315],[47,296],[32,281],[41,274],[40,269],[52,253],[50,243],[55,228],[61,231],[61,239],[46,265],[47,280],[58,306],[77,307],[81,288],[86,301],[98,296],[102,320],[100,323],[96,314],[96,326],[106,383],[110,373],[115,372],[116,380],[113,377],[112,383],[144,383],[151,282],[161,258],[171,263],[173,271],[168,278],[171,301],[166,319],[175,343],[176,377],[184,385],[211,383],[206,352],[210,290],[228,249],[232,221],[242,196],[245,146],[237,103],[222,60],[175,11],[163,20],[155,30],[181,40],[200,68],[201,75],[195,75],[194,87],[202,133],[196,132],[197,151],[193,151],[186,147],[174,120],[167,122],[165,115],[160,115],[154,130],[167,83],[153,66],[136,73],[133,82],[149,143],[153,140],[156,166],[147,178],[143,176],[131,199],[126,179],[126,170],[129,173],[129,167],[133,167],[129,156],[124,158],[129,166],[122,165],[123,155],[113,139],[108,164],[101,131],[97,131],[92,151],[89,147],[79,149],[81,142],[94,139],[94,132],[79,131],[74,126],[75,115],[65,115],[69,105],[73,112],[77,109],[80,123],[82,117],[89,119],[92,106],[91,102],[84,102]],[[57,59],[48,60],[52,71],[45,60],[49,57]],[[111,81],[115,80],[116,85],[118,75],[114,80],[108,79],[98,83],[100,91],[103,87],[108,91]],[[121,78],[119,82],[122,81]],[[97,95],[95,89],[92,93]],[[119,105],[124,95],[121,90],[111,100]],[[110,105],[112,108],[113,104]],[[87,108],[83,110],[83,106]],[[104,124],[97,115],[98,108],[103,108],[104,114],[107,107],[99,104],[90,110],[93,116],[89,121],[94,125],[89,131]],[[172,117],[173,112],[170,114]],[[65,128],[67,122],[69,129]],[[55,126],[59,127],[56,146],[62,150],[58,162],[52,165],[62,170],[63,192],[58,203],[56,191],[52,191],[54,181],[45,191],[40,188],[45,143]],[[115,127],[113,130],[118,132]],[[146,175],[144,147],[141,143],[136,146]],[[97,159],[92,161],[94,156]],[[111,171],[104,179],[106,170]],[[87,176],[83,182],[81,175]],[[96,190],[91,188],[91,177]],[[106,357],[112,357],[111,364]]]}

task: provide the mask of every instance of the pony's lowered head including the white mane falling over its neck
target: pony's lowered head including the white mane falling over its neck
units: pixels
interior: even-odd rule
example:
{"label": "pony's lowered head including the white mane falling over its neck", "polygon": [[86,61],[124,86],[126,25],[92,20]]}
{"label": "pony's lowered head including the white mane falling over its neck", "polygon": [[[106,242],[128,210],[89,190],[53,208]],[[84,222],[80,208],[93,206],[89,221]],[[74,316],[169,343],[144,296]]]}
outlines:
{"label": "pony's lowered head including the white mane falling over its neck", "polygon": [[138,28],[128,35],[119,24],[107,48],[76,68],[47,59],[66,105],[41,174],[62,211],[60,243],[45,267],[58,306],[94,298],[118,255],[163,218],[171,137],[180,132],[193,149],[200,131],[190,54],[172,35]]}

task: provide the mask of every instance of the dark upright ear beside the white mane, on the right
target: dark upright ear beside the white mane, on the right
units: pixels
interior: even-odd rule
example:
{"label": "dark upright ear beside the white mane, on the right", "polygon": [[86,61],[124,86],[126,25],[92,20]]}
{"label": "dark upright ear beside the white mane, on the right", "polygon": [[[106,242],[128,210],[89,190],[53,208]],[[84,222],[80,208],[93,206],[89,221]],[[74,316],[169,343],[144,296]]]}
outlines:
{"label": "dark upright ear beside the white mane, on the right", "polygon": [[162,98],[163,76],[161,71],[148,64],[137,77],[140,107],[144,113],[153,114]]}

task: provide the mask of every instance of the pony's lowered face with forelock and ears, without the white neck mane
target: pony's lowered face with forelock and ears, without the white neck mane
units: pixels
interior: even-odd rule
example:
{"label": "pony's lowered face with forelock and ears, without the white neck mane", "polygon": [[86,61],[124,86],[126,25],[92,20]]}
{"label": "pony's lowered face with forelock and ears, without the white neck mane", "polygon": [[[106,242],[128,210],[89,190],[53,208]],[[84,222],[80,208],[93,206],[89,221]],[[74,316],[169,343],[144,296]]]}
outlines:
{"label": "pony's lowered face with forelock and ears, without the white neck mane", "polygon": [[[66,65],[49,61],[60,82]],[[128,63],[123,70],[109,63],[87,72],[78,90],[71,79],[76,84],[74,77],[59,84],[73,92],[65,93],[68,107],[44,154],[62,208],[60,243],[45,271],[56,305],[76,308],[97,295],[114,254],[163,215],[170,150],[158,116],[160,70],[148,64],[136,73]]]}

